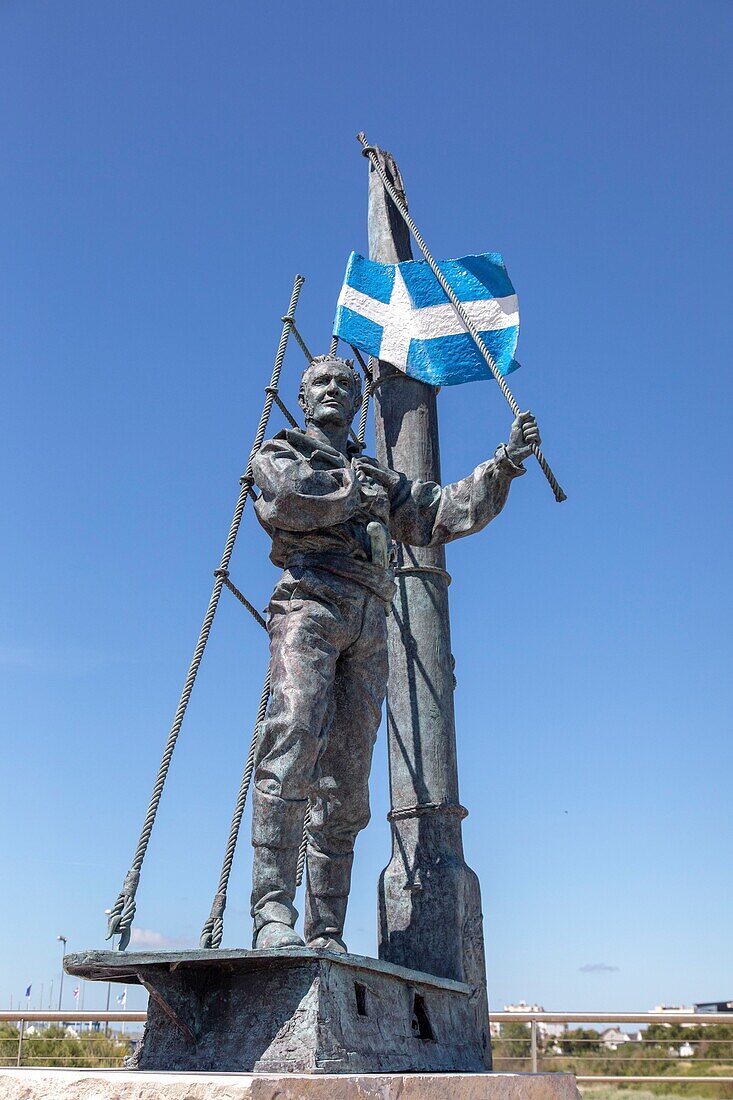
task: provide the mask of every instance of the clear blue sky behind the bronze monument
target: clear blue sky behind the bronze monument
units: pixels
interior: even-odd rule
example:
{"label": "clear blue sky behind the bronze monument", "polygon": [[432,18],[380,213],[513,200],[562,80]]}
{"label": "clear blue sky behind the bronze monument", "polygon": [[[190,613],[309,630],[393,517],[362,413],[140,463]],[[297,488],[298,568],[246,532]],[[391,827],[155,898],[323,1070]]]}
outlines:
{"label": "clear blue sky behind the bronze monument", "polygon": [[[491,1001],[733,997],[732,24],[722,0],[0,6],[3,1007],[57,990],[58,934],[105,946],[293,276],[326,350],[366,250],[360,129],[437,256],[504,254],[513,385],[569,496],[532,464],[449,549]],[[293,345],[291,404],[300,369]],[[445,480],[507,436],[492,383],[439,410]],[[247,515],[232,578],[258,606],[267,549]],[[138,945],[198,938],[265,661],[223,598]],[[383,732],[372,791],[347,930],[365,954]],[[232,946],[249,870],[248,817]]]}

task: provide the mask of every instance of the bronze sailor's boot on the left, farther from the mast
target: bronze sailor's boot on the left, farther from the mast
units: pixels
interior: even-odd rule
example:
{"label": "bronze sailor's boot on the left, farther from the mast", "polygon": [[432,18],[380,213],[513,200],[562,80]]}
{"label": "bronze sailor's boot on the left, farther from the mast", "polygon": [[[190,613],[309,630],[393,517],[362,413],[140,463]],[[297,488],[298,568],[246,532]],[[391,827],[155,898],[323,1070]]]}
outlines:
{"label": "bronze sailor's boot on the left, farther from the mast", "polygon": [[303,947],[295,931],[295,879],[307,802],[256,785],[252,795],[252,916],[255,948]]}

